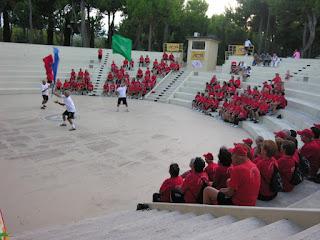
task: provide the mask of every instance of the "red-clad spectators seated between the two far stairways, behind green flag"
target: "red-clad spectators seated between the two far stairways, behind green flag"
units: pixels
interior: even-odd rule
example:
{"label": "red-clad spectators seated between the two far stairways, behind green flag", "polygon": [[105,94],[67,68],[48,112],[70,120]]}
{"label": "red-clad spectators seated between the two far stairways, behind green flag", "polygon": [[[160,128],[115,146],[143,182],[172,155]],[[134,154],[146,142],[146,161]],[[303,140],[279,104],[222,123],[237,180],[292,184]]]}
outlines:
{"label": "red-clad spectators seated between the two far stairways, behind green flag", "polygon": [[[167,63],[168,60],[170,61],[169,65]],[[180,65],[175,62],[172,53],[169,57],[164,53],[160,63],[155,59],[151,70],[149,64],[149,56],[146,55],[146,57],[143,57],[141,55],[139,59],[139,68],[135,77],[130,79],[130,75],[126,70],[134,69],[134,61],[131,60],[129,62],[125,59],[121,67],[118,67],[113,61],[111,64],[111,71],[108,73],[107,80],[103,86],[104,94],[107,96],[114,96],[117,87],[124,82],[128,87],[128,96],[143,98],[148,91],[154,88],[159,76],[164,77],[170,71],[178,71],[180,69]],[[146,71],[143,72],[140,66],[147,67]]]}

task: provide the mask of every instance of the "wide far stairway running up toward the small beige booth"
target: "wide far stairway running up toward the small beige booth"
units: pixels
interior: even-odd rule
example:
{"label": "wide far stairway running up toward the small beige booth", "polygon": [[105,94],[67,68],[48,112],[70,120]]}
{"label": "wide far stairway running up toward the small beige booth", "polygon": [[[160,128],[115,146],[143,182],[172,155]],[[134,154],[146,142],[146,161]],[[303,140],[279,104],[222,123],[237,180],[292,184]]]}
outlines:
{"label": "wide far stairway running up toward the small beige booth", "polygon": [[190,71],[186,69],[182,69],[179,72],[170,72],[147,94],[145,99],[154,102],[168,103],[172,94],[189,74]]}

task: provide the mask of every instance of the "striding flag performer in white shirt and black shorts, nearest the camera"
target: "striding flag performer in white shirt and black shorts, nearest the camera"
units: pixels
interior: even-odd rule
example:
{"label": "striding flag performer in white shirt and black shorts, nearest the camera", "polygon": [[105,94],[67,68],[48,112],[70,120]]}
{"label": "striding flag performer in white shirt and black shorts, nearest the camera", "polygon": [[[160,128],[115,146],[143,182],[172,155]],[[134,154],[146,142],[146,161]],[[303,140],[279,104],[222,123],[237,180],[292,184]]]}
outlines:
{"label": "striding flag performer in white shirt and black shorts, nearest the camera", "polygon": [[76,112],[76,107],[74,105],[74,102],[70,96],[69,91],[65,91],[64,95],[61,95],[57,92],[54,93],[57,97],[60,97],[63,99],[63,103],[59,102],[58,100],[55,101],[55,103],[61,105],[61,106],[66,106],[66,111],[62,113],[62,119],[63,123],[60,124],[60,126],[64,127],[67,126],[66,124],[66,118],[68,119],[68,122],[71,125],[71,128],[69,129],[70,131],[76,130],[76,126],[74,124],[74,114]]}

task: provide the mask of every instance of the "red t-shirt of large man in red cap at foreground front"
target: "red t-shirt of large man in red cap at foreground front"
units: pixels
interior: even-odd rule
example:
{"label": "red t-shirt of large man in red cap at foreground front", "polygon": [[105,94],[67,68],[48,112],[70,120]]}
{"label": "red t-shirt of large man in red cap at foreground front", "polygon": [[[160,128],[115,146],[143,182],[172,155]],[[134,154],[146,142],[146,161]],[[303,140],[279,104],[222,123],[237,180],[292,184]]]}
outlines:
{"label": "red t-shirt of large man in red cap at foreground front", "polygon": [[240,165],[230,167],[228,187],[235,192],[232,202],[239,206],[255,206],[259,194],[260,173],[249,159]]}

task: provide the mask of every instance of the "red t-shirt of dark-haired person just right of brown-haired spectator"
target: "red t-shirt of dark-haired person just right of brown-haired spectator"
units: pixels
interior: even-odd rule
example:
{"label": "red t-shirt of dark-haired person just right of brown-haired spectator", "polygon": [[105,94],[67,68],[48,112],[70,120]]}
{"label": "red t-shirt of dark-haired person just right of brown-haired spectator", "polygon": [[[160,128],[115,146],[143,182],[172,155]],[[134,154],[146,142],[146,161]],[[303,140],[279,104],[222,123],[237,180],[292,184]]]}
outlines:
{"label": "red t-shirt of dark-haired person just right of brown-haired spectator", "polygon": [[285,192],[291,192],[294,185],[290,183],[292,174],[295,169],[296,159],[294,156],[283,155],[278,159],[279,172],[283,182],[283,190]]}

